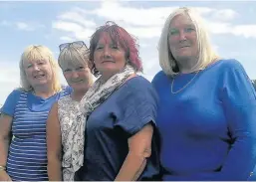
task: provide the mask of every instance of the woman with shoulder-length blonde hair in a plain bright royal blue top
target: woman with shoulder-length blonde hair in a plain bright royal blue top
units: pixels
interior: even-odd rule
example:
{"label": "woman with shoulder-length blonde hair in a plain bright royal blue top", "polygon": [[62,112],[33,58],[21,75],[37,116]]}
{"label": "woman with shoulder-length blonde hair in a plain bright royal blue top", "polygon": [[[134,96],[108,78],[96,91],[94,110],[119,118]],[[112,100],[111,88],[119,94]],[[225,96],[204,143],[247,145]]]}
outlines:
{"label": "woman with shoulder-length blonde hair in a plain bright royal blue top", "polygon": [[212,50],[190,8],[167,18],[159,40],[163,180],[247,180],[256,162],[255,91],[236,60]]}

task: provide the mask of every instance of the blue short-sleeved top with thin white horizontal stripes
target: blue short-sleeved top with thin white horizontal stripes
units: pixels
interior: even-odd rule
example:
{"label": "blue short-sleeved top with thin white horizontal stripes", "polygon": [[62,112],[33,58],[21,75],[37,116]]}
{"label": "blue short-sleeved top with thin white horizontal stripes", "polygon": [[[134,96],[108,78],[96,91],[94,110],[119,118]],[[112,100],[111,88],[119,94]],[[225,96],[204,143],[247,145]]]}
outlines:
{"label": "blue short-sleeved top with thin white horizontal stripes", "polygon": [[47,181],[46,120],[53,103],[71,93],[68,87],[49,98],[12,91],[2,107],[11,115],[12,133],[7,173],[13,181]]}

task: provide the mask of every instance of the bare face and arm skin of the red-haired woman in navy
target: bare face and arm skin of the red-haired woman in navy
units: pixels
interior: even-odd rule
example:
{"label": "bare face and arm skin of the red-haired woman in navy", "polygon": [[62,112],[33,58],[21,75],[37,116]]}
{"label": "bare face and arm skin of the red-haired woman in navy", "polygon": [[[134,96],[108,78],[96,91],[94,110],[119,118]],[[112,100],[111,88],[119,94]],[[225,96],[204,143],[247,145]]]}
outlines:
{"label": "bare face and arm skin of the red-haired woman in navy", "polygon": [[[112,41],[108,33],[103,33],[94,52],[94,61],[97,70],[107,81],[125,68],[126,52],[120,45],[116,45]],[[132,77],[134,76],[128,79]],[[128,138],[128,156],[115,181],[134,181],[138,179],[146,165],[146,158],[151,155],[152,133],[152,125],[146,124],[141,130]]]}

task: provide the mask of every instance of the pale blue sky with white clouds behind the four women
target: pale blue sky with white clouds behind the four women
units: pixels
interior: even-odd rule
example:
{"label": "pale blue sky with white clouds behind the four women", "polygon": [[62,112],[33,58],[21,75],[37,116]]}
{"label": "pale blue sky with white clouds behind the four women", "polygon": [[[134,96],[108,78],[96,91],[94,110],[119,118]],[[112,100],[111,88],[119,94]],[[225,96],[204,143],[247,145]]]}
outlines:
{"label": "pale blue sky with white clouds behind the four women", "polygon": [[[165,18],[176,7],[196,7],[205,18],[212,44],[222,58],[241,62],[256,79],[256,2],[0,2],[0,103],[19,87],[19,59],[25,47],[42,44],[58,57],[58,46],[89,38],[95,29],[112,20],[137,37],[144,77],[149,81],[160,70],[157,42]],[[60,73],[61,75],[61,73]],[[62,83],[65,83],[61,75]]]}

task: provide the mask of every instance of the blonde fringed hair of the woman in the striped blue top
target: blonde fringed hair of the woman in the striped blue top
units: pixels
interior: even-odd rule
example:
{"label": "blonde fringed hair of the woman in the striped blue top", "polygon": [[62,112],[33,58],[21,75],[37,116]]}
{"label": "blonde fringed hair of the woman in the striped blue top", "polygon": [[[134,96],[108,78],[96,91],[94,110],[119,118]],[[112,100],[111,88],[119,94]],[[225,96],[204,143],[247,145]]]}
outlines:
{"label": "blonde fringed hair of the woman in the striped blue top", "polygon": [[26,72],[24,69],[24,62],[25,61],[37,61],[37,60],[46,60],[49,61],[51,68],[52,68],[52,90],[55,92],[61,91],[61,83],[58,77],[59,67],[54,59],[54,55],[49,48],[42,45],[31,45],[28,46],[25,51],[23,52],[20,60],[20,80],[21,80],[21,89],[24,91],[33,91],[33,87],[29,84]]}

